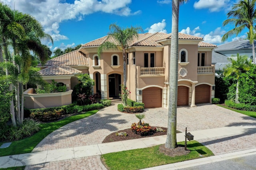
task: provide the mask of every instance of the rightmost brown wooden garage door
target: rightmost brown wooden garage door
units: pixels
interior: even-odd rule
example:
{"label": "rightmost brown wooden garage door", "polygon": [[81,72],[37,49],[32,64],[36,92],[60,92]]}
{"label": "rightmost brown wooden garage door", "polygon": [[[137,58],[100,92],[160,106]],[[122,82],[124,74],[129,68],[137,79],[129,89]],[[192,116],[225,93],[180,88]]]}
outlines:
{"label": "rightmost brown wooden garage door", "polygon": [[201,84],[196,86],[196,104],[210,103],[210,86]]}

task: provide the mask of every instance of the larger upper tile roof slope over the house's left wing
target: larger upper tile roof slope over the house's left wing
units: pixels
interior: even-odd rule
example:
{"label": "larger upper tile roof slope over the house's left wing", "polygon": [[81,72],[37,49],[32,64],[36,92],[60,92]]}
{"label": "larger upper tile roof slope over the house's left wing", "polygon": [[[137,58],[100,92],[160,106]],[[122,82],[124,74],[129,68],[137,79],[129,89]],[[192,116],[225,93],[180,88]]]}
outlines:
{"label": "larger upper tile roof slope over the house's left wing", "polygon": [[[88,65],[88,61],[86,59],[86,55],[84,53],[79,52],[78,50],[71,51],[70,53],[66,53],[64,55],[60,55],[54,59],[50,59],[46,62],[44,66],[77,66],[77,65]],[[38,66],[42,66],[38,64]]]}

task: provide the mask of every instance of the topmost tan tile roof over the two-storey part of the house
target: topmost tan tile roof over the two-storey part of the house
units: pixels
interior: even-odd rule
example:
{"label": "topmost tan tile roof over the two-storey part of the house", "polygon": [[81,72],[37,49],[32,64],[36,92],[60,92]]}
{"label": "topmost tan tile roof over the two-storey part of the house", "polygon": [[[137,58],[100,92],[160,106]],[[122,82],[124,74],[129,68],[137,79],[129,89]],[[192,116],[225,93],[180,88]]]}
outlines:
{"label": "topmost tan tile roof over the two-storey part of the house", "polygon": [[[138,38],[135,38],[133,42],[129,43],[128,46],[157,46],[157,45],[162,45],[160,43],[161,40],[164,39],[171,39],[172,33],[143,33],[143,34],[138,34]],[[186,40],[201,40],[203,41],[202,37],[196,37],[193,35],[188,35],[188,34],[183,34],[179,33],[179,39],[186,39]],[[118,45],[118,43],[112,38],[109,37],[107,39],[107,36],[101,37],[99,39],[90,41],[82,47],[92,47],[92,46],[100,46],[102,43],[105,41],[110,41]],[[200,42],[200,47],[217,47],[216,45],[210,44],[210,43],[205,43],[205,42]]]}

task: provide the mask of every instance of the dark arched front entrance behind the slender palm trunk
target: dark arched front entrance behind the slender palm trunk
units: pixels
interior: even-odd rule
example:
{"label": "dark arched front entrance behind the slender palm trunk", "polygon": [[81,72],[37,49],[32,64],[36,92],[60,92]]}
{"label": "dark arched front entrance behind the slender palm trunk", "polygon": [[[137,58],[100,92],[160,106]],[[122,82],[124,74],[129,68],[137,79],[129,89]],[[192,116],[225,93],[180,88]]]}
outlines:
{"label": "dark arched front entrance behind the slender palm trunk", "polygon": [[121,74],[110,74],[108,75],[108,96],[118,97],[121,93]]}

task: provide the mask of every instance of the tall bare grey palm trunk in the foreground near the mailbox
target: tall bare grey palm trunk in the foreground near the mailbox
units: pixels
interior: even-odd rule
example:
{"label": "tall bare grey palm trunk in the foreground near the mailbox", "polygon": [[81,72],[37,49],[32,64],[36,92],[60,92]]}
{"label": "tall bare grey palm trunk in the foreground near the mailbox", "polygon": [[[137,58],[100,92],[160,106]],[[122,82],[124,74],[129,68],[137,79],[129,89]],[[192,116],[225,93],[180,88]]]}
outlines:
{"label": "tall bare grey palm trunk in the foreground near the mailbox", "polygon": [[[168,129],[165,147],[177,147],[177,96],[178,96],[178,24],[180,4],[188,0],[172,0],[172,41],[169,64],[169,103],[168,103]],[[172,75],[172,76],[171,76]]]}

